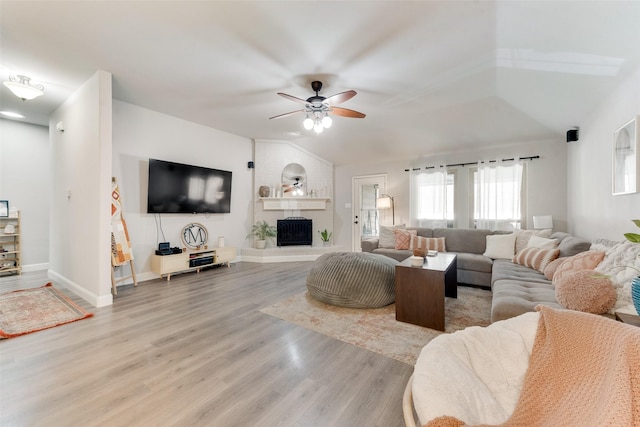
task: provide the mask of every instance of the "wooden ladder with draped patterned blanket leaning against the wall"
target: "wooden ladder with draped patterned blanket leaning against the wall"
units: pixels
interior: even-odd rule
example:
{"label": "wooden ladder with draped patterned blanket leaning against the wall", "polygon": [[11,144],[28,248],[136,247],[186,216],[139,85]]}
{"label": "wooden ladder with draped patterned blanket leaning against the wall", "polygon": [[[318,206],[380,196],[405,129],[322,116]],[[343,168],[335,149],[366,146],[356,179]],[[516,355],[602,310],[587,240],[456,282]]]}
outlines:
{"label": "wooden ladder with draped patterned blanket leaning against the wall", "polygon": [[[115,269],[129,264],[131,274],[116,278]],[[133,265],[133,252],[127,231],[127,223],[122,214],[120,189],[116,178],[111,178],[111,293],[118,295],[116,284],[133,279],[133,286],[138,286],[136,271]]]}

